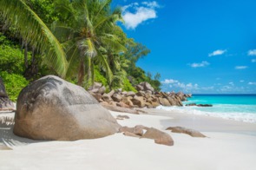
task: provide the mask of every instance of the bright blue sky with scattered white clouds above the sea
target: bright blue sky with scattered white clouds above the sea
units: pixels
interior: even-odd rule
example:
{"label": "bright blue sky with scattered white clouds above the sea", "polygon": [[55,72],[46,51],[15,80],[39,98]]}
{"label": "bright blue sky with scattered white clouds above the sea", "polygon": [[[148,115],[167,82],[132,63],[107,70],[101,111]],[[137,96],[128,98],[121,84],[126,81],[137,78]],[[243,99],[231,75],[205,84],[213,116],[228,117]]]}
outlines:
{"label": "bright blue sky with scattered white clouds above the sea", "polygon": [[255,0],[113,0],[162,91],[256,94]]}

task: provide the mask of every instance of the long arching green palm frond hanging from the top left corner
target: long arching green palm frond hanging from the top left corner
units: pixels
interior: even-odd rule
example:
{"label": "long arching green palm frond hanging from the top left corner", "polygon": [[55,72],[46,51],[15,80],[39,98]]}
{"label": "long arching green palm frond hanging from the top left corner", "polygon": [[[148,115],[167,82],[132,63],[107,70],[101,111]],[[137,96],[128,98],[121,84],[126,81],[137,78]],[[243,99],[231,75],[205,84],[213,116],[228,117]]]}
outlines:
{"label": "long arching green palm frond hanging from the top left corner", "polygon": [[7,24],[17,29],[24,42],[42,53],[49,67],[62,77],[66,75],[68,62],[62,45],[23,0],[1,0],[0,15]]}

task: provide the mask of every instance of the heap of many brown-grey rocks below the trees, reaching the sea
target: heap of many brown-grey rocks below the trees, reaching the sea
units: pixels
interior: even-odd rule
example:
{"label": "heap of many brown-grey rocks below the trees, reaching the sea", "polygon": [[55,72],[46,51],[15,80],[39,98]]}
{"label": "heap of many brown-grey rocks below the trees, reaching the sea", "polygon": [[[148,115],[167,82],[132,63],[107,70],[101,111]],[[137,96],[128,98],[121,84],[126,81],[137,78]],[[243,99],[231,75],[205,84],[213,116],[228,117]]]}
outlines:
{"label": "heap of many brown-grey rocks below the trees, reaching the sea", "polygon": [[[177,94],[154,92],[154,88],[148,82],[141,82],[136,85],[137,93],[133,91],[112,90],[106,93],[106,88],[101,83],[89,88],[89,93],[95,97],[103,106],[113,106],[121,108],[156,108],[162,106],[182,106],[182,101],[187,101],[187,97],[182,92]],[[111,108],[108,108],[111,109]]]}

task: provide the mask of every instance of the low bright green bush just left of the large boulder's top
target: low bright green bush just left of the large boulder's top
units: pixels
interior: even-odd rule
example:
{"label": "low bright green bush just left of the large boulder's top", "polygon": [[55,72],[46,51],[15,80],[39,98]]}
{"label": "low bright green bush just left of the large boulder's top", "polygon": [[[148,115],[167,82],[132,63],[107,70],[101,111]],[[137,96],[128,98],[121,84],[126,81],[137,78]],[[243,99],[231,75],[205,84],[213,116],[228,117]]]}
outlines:
{"label": "low bright green bush just left of the large boulder's top", "polygon": [[16,101],[21,90],[29,84],[23,75],[9,74],[7,71],[1,71],[0,76],[3,79],[7,95],[9,95],[11,101]]}

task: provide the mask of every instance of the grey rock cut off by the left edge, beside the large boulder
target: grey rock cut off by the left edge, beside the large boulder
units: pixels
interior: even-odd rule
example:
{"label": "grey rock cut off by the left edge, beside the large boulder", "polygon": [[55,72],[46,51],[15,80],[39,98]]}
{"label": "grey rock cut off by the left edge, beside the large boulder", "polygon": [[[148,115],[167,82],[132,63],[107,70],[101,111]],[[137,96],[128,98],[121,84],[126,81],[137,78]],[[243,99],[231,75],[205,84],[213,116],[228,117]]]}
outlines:
{"label": "grey rock cut off by the left edge, beside the large boulder", "polygon": [[0,110],[15,110],[14,104],[10,101],[8,95],[6,94],[3,80],[0,77]]}

